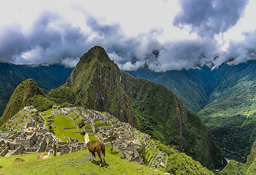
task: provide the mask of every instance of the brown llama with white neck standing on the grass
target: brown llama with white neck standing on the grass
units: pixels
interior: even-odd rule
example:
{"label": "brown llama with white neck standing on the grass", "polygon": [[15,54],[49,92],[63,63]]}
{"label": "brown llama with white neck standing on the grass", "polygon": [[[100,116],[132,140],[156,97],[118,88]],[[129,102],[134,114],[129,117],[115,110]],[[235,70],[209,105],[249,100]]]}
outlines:
{"label": "brown llama with white neck standing on the grass", "polygon": [[[105,167],[107,167],[106,166],[106,161],[105,161],[105,145],[104,145],[104,143],[99,142],[99,141],[90,141],[89,140],[89,135],[88,135],[88,133],[86,133],[86,131],[82,131],[81,135],[84,135],[85,144],[87,144],[87,149],[89,150],[89,152],[92,153],[92,159],[93,159],[93,156],[94,156],[96,161],[98,162],[98,160],[95,156],[95,152],[96,152],[99,156],[100,161],[101,161],[99,166],[100,167],[102,166],[102,157],[103,157]],[[101,157],[101,152],[102,152],[102,157]],[[91,162],[92,162],[92,160],[91,160]]]}

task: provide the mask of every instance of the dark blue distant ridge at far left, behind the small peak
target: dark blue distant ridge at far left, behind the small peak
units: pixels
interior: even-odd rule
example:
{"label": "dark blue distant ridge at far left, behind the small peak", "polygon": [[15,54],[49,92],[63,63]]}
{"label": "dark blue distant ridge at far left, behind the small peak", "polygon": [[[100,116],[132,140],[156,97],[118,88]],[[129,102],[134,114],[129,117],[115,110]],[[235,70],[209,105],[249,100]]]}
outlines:
{"label": "dark blue distant ridge at far left, behind the small peak", "polygon": [[63,65],[15,65],[9,62],[0,62],[0,116],[4,113],[6,104],[15,88],[32,78],[38,83],[44,93],[63,85],[73,68]]}

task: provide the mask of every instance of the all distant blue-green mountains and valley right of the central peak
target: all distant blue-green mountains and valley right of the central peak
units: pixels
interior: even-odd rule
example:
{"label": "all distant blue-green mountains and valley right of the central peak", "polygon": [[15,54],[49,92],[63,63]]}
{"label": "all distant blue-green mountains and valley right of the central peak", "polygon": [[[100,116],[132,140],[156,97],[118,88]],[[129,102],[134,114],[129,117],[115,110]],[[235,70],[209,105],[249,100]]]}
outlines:
{"label": "all distant blue-green mountains and valley right of the central peak", "polygon": [[256,139],[256,60],[222,64],[211,70],[152,72],[139,69],[133,76],[161,83],[200,115],[229,159],[245,162]]}

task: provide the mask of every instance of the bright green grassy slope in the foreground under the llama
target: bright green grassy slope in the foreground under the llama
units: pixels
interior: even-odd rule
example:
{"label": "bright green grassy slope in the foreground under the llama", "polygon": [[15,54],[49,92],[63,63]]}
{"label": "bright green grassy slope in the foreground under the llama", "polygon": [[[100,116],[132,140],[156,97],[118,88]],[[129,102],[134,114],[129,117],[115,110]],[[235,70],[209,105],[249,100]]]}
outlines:
{"label": "bright green grassy slope in the foreground under the llama", "polygon": [[[70,153],[68,155],[37,160],[39,155],[19,155],[1,157],[0,174],[164,174],[135,162],[127,162],[115,155],[106,153],[108,168],[99,167],[99,162],[90,162],[91,153],[88,150]],[[11,163],[16,157],[21,157],[26,162]]]}

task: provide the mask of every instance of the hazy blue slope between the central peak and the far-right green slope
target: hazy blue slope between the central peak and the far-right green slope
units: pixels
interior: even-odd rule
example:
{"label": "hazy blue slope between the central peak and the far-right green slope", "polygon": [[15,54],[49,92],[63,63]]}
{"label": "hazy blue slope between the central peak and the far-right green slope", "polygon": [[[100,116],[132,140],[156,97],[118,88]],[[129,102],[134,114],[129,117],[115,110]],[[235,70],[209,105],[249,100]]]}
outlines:
{"label": "hazy blue slope between the central peak and the far-right green slope", "polygon": [[181,71],[153,72],[147,68],[129,71],[134,77],[146,78],[155,83],[161,83],[173,90],[187,108],[196,113],[207,103],[212,87],[204,81],[208,79],[210,68],[188,69]]}

